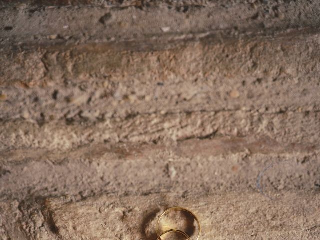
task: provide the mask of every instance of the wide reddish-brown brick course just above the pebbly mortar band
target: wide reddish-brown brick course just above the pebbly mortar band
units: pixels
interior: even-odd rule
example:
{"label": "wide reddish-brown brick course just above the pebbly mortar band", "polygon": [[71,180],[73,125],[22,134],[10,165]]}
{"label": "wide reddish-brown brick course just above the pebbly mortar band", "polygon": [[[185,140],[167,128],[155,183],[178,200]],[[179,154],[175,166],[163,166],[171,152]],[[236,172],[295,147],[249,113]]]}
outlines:
{"label": "wide reddish-brown brick course just above the pebbly mortar band", "polygon": [[[228,81],[234,85],[234,80],[238,80],[236,87],[250,86],[251,79],[258,79],[254,84],[263,89],[265,85],[288,81],[287,78],[291,84],[305,80],[311,83],[319,71],[317,38],[317,33],[302,29],[269,37],[217,36],[166,42],[165,47],[146,44],[154,49],[143,49],[144,43],[137,42],[48,47],[37,44],[35,49],[16,50],[3,47],[0,84],[28,88],[51,85],[52,81],[69,87],[88,80],[124,85],[161,82],[164,86],[184,82],[214,89],[229,85]],[[214,87],[214,83],[218,84]]]}

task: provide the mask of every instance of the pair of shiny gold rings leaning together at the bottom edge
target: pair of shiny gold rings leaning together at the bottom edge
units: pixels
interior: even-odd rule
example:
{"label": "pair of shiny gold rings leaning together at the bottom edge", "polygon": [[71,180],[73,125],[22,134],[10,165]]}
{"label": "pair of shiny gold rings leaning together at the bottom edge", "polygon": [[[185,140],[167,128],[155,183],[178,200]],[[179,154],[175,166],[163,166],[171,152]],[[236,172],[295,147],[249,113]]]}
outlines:
{"label": "pair of shiny gold rings leaning together at the bottom edge", "polygon": [[190,236],[188,234],[186,234],[184,231],[181,231],[181,230],[178,230],[178,229],[175,229],[175,228],[172,228],[172,229],[169,229],[169,230],[165,230],[163,232],[160,233],[160,230],[159,230],[159,224],[160,224],[160,220],[161,218],[166,214],[168,213],[169,211],[185,211],[187,212],[188,214],[190,214],[194,220],[197,222],[197,225],[198,225],[198,235],[196,237],[195,240],[198,240],[199,237],[200,237],[200,234],[201,234],[201,225],[200,225],[200,222],[199,222],[199,219],[197,218],[197,216],[190,210],[186,209],[186,208],[183,208],[183,207],[179,207],[179,206],[175,206],[175,207],[171,207],[167,210],[165,210],[159,217],[157,223],[156,223],[156,227],[155,227],[155,231],[156,231],[156,235],[158,237],[158,240],[163,240],[161,238],[161,236],[163,236],[164,234],[166,233],[169,233],[169,232],[176,232],[178,234],[181,234],[183,235],[186,239],[188,240],[191,240]]}

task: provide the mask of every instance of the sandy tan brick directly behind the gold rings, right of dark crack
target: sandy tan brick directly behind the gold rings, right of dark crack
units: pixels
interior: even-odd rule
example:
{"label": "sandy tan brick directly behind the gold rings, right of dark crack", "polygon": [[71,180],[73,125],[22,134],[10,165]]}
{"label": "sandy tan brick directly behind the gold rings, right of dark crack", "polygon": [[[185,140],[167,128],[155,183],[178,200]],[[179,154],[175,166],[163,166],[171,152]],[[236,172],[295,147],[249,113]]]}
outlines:
{"label": "sandy tan brick directly behind the gold rings, right of dark crack", "polygon": [[198,215],[202,239],[316,239],[320,235],[319,202],[319,194],[307,192],[288,192],[274,201],[258,193],[189,198],[151,194],[120,199],[101,196],[70,203],[50,199],[46,207],[63,240],[154,239],[159,214],[171,206],[183,206]]}

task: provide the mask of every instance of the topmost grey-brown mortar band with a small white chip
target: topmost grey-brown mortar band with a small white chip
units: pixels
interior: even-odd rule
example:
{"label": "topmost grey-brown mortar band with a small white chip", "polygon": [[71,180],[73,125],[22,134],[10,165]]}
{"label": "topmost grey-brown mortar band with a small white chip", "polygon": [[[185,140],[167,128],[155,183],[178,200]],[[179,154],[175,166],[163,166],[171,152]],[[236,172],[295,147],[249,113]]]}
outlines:
{"label": "topmost grey-brown mortar band with a small white chip", "polygon": [[[75,4],[79,3],[78,7],[61,7],[59,5],[64,5],[59,4],[62,1],[43,2],[20,2],[13,7],[5,7],[13,3],[2,3],[2,43],[142,40],[213,30],[228,31],[230,35],[267,30],[273,33],[291,28],[315,28],[319,24],[317,1],[131,1],[123,2],[123,7],[116,1],[96,1],[97,4],[90,1],[93,4],[87,7],[81,6],[81,1],[75,1]],[[108,3],[111,3],[110,7],[103,7]],[[297,11],[300,14],[296,14]]]}

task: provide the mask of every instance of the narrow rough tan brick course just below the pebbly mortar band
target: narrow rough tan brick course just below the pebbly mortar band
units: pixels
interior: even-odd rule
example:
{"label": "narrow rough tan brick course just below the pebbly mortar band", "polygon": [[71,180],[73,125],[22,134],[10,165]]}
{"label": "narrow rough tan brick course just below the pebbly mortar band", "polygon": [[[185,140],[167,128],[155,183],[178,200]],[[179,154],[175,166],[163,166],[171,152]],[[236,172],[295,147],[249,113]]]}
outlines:
{"label": "narrow rough tan brick course just below the pebbly mortar band", "polygon": [[[319,112],[192,112],[138,114],[99,121],[2,121],[0,150],[45,148],[67,150],[104,142],[163,143],[215,136],[267,136],[283,144],[318,143]],[[297,128],[298,126],[298,128]],[[301,148],[300,148],[301,149]]]}

